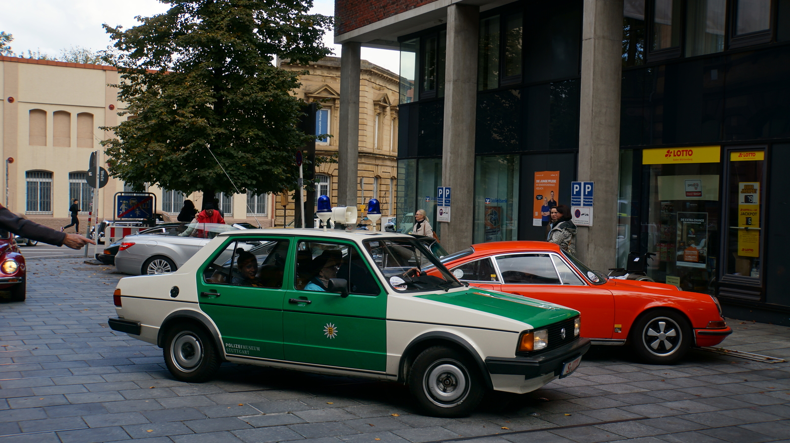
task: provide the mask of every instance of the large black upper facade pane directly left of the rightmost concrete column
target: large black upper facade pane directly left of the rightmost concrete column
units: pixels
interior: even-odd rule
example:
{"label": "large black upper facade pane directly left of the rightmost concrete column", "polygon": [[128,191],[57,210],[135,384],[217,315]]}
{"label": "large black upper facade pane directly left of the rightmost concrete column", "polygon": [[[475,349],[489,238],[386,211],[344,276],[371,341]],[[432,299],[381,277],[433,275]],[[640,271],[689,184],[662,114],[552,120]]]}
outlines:
{"label": "large black upper facade pane directly left of the rightmost concrete column", "polygon": [[581,15],[579,0],[529,3],[524,24],[523,83],[579,75]]}

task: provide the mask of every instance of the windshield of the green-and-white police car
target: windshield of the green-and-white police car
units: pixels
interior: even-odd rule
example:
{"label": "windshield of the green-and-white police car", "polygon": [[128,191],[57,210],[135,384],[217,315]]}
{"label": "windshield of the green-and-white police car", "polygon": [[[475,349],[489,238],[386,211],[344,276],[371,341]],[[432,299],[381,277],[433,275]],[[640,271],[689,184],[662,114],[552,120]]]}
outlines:
{"label": "windshield of the green-and-white police car", "polygon": [[[387,283],[399,292],[445,291],[463,286],[438,259],[416,239],[366,240],[365,248],[373,262],[386,277]],[[431,274],[425,270],[431,268]],[[437,277],[441,275],[441,277]]]}

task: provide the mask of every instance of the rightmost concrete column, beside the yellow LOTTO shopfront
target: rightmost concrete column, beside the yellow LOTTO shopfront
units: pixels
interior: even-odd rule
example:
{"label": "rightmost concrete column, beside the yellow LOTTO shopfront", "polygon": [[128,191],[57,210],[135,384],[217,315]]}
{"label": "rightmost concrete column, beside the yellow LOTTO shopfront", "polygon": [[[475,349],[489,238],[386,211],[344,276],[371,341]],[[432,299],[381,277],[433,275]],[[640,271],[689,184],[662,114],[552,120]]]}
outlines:
{"label": "rightmost concrete column, beside the yellow LOTTO shopfront", "polygon": [[576,250],[595,270],[615,266],[620,147],[623,0],[585,0],[581,31],[579,181],[594,181],[592,227]]}

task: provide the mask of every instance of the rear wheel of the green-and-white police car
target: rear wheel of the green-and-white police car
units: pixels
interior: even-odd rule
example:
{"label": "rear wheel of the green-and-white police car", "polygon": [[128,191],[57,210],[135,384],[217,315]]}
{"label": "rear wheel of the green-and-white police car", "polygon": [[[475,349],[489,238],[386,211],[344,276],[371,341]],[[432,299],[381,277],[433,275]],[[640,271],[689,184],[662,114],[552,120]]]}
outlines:
{"label": "rear wheel of the green-and-white police car", "polygon": [[220,368],[216,345],[208,333],[194,323],[178,323],[164,338],[164,363],[182,382],[202,383]]}

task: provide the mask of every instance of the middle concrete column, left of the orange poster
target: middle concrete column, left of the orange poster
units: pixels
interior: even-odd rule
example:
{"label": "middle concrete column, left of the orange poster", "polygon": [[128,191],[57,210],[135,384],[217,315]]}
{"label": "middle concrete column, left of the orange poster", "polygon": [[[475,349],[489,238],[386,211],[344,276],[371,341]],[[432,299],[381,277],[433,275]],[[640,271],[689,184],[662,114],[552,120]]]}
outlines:
{"label": "middle concrete column, left of the orange poster", "polygon": [[453,188],[450,223],[442,222],[447,251],[472,244],[479,16],[477,6],[455,3],[447,8],[442,186]]}

